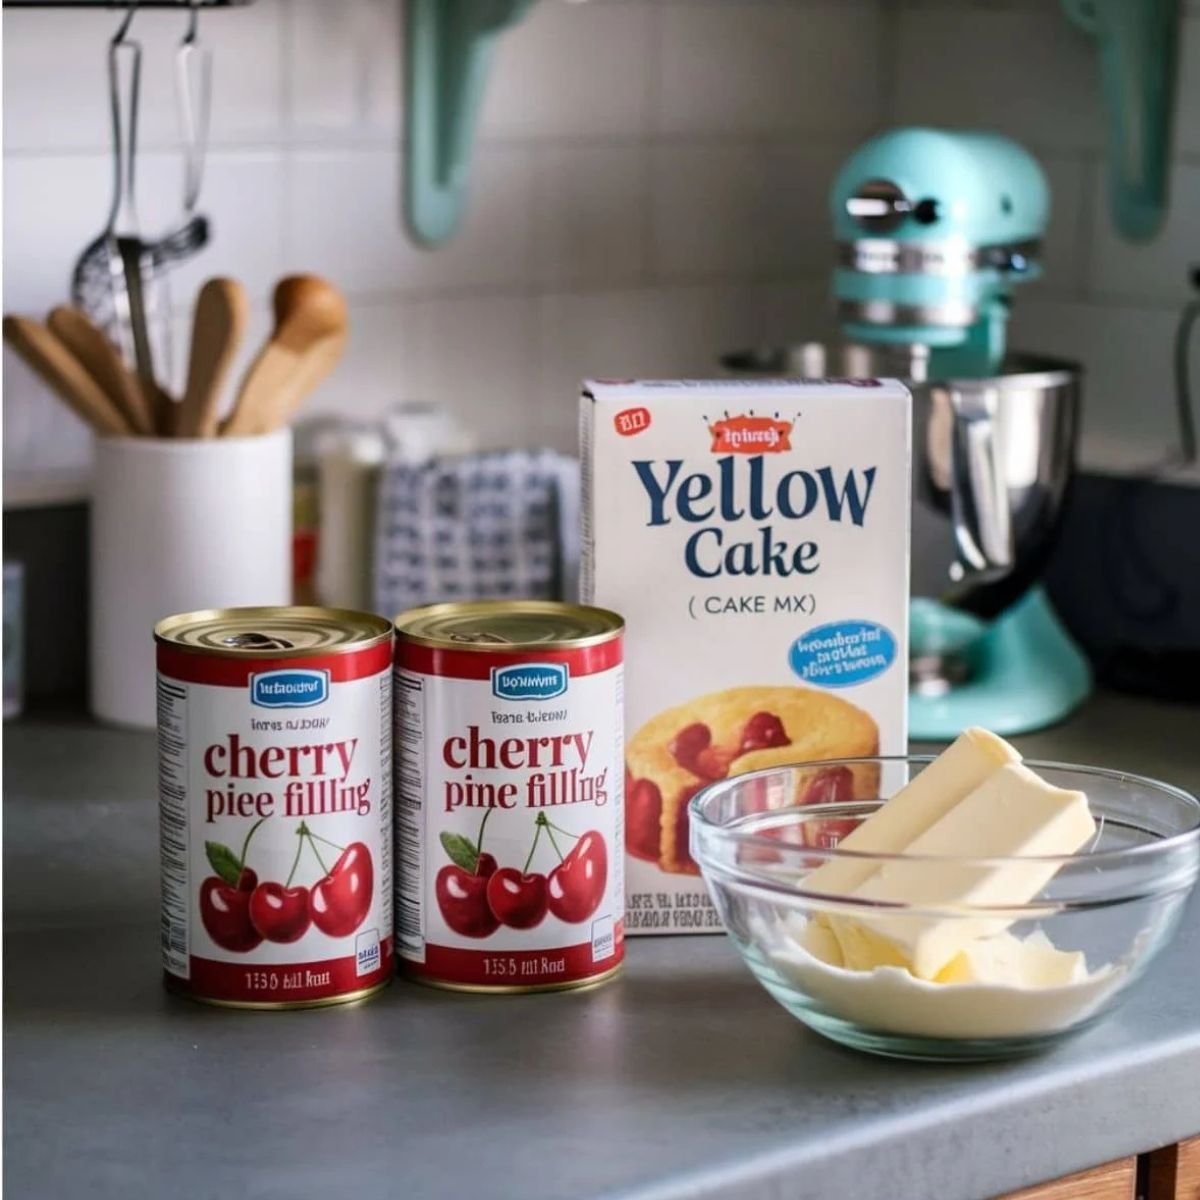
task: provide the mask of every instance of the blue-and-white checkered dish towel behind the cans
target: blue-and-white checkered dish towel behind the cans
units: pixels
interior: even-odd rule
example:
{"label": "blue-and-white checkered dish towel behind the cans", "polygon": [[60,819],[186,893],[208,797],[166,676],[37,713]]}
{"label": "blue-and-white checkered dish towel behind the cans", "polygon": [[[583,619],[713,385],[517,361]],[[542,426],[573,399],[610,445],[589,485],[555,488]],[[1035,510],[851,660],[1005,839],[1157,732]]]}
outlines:
{"label": "blue-and-white checkered dish towel behind the cans", "polygon": [[374,599],[578,598],[580,464],[552,450],[389,462],[379,484]]}

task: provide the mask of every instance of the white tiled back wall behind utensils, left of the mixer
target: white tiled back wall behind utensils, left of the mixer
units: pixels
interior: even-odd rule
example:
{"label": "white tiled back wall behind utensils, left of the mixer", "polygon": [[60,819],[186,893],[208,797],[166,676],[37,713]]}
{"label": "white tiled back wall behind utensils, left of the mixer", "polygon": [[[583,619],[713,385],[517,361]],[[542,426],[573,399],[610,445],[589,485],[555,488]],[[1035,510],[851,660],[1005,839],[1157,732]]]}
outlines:
{"label": "white tiled back wall behind utensils, left of the mixer", "polygon": [[[109,199],[110,13],[4,14],[5,308],[66,292]],[[170,55],[184,18],[145,12],[144,224],[180,168]],[[211,248],[173,277],[178,335],[198,283],[329,275],[352,344],[311,406],[433,400],[490,444],[575,444],[587,373],[707,372],[721,349],[822,319],[823,188],[882,121],[887,23],[871,0],[540,0],[505,35],[461,236],[401,226],[400,0],[256,0],[205,14],[215,52],[202,208]],[[78,422],[5,359],[7,485],[86,462]],[[178,373],[178,372],[176,372]]]}

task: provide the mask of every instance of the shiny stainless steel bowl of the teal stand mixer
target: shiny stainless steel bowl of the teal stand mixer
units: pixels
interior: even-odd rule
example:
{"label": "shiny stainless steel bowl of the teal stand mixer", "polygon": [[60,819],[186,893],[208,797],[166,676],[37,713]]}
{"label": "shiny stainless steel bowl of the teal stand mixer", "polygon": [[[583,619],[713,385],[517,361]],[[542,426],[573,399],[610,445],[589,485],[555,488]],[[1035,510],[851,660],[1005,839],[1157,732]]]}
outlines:
{"label": "shiny stainless steel bowl of the teal stand mixer", "polygon": [[913,593],[990,618],[1042,575],[1074,462],[1078,364],[1012,354],[989,379],[917,382],[908,348],[806,342],[726,354],[721,367],[746,377],[908,378]]}

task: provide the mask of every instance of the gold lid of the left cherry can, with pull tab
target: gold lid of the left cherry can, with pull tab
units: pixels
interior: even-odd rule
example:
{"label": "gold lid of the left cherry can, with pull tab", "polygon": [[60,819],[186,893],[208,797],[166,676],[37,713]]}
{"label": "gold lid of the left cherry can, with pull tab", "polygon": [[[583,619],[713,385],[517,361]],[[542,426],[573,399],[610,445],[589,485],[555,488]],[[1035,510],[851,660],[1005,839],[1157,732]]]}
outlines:
{"label": "gold lid of the left cherry can, with pull tab", "polygon": [[287,659],[362,650],[391,636],[383,617],[352,608],[209,608],[167,617],[156,642],[226,658]]}

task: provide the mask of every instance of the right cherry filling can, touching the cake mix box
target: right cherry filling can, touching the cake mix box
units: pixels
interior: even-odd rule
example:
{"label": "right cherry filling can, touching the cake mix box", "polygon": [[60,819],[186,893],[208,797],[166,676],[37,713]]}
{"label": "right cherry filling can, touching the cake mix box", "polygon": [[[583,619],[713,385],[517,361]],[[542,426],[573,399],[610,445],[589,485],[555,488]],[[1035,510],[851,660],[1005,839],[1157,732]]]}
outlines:
{"label": "right cherry filling can, touching the cake mix box", "polygon": [[551,601],[396,618],[396,940],[468,991],[600,983],[624,958],[624,623]]}

